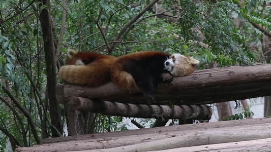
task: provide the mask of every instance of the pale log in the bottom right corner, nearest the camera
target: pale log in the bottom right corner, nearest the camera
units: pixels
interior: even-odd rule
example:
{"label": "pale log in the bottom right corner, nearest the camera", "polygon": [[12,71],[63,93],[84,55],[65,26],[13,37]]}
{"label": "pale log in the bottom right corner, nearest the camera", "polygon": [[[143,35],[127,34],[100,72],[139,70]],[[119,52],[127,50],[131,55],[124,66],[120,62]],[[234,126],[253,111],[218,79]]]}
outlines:
{"label": "pale log in the bottom right corner, nearest the camera", "polygon": [[[239,142],[227,142],[227,143],[218,143],[218,144],[207,144],[200,146],[192,146],[192,147],[183,147],[183,148],[174,148],[167,150],[159,150],[156,152],[211,152],[211,151],[223,151],[223,152],[231,152],[231,151],[266,151],[269,152],[271,149],[271,138],[266,139],[257,139],[257,140],[249,140],[249,141],[239,141]],[[147,151],[150,152],[150,151]]]}

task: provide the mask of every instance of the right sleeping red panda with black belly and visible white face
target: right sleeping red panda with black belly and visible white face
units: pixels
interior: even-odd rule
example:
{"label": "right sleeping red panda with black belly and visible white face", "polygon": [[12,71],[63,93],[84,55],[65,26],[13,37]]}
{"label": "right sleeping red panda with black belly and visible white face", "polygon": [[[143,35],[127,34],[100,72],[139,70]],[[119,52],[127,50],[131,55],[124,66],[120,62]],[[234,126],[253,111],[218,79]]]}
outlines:
{"label": "right sleeping red panda with black belly and visible white face", "polygon": [[127,90],[141,89],[154,100],[153,92],[159,81],[170,83],[173,76],[185,76],[195,71],[199,63],[193,57],[157,51],[137,52],[119,57],[111,67],[115,85]]}

